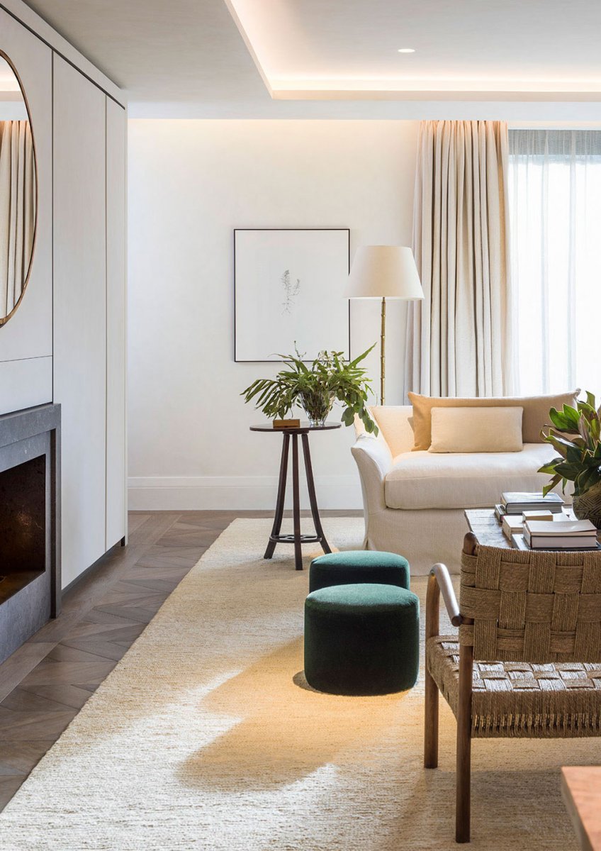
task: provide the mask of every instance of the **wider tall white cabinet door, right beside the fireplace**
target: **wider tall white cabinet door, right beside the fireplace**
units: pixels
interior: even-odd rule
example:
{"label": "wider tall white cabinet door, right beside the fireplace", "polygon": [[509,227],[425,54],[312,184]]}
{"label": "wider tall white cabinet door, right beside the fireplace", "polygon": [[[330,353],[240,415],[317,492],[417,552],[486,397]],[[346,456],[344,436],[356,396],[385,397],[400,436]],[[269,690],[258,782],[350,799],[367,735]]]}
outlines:
{"label": "wider tall white cabinet door, right beside the fireplace", "polygon": [[54,402],[62,406],[62,574],[105,552],[105,94],[54,54]]}

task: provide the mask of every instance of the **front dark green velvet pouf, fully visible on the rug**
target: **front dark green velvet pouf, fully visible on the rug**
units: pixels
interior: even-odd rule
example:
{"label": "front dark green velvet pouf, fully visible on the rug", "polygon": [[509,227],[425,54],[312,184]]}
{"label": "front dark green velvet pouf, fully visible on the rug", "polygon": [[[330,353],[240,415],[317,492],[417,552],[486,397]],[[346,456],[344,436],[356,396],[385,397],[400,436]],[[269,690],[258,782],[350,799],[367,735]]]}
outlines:
{"label": "front dark green velvet pouf, fully visible on the rug", "polygon": [[419,670],[419,600],[397,585],[332,585],[304,603],[304,675],[328,694],[390,694]]}

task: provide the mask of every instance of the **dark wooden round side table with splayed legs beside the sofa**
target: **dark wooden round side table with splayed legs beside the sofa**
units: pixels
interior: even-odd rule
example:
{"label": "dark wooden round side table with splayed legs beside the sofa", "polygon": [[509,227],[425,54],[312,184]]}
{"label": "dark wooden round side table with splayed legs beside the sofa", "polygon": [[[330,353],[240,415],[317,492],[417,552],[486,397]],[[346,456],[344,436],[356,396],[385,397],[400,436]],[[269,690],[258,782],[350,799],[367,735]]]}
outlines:
{"label": "dark wooden round side table with splayed legs beside the sofa", "polygon": [[[294,563],[297,570],[303,569],[302,544],[320,544],[324,552],[332,552],[326,541],[326,535],[321,528],[320,513],[317,510],[317,498],[315,497],[315,482],[313,480],[313,468],[311,466],[311,453],[309,451],[309,431],[332,431],[340,428],[341,423],[328,423],[323,426],[309,426],[303,422],[298,428],[276,429],[270,423],[260,426],[251,426],[251,431],[269,432],[269,434],[281,434],[283,443],[281,447],[280,481],[278,483],[278,495],[275,502],[274,525],[269,535],[269,544],[265,550],[264,558],[271,558],[277,544],[294,544]],[[298,436],[303,441],[304,469],[307,474],[307,490],[309,491],[309,504],[311,515],[315,524],[315,534],[301,534],[300,530],[300,499],[298,488]],[[280,534],[281,518],[284,515],[284,500],[286,498],[286,478],[288,475],[288,454],[292,438],[292,517],[294,523],[293,534]]]}

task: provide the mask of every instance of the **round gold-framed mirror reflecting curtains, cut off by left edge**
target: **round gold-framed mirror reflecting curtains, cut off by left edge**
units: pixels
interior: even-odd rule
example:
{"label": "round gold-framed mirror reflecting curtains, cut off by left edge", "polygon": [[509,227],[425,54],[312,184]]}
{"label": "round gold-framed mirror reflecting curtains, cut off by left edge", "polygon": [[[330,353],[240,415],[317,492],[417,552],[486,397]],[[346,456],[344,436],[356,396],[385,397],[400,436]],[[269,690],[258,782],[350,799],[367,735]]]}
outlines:
{"label": "round gold-framed mirror reflecting curtains, cut off by left edge", "polygon": [[0,49],[0,328],[18,310],[37,233],[37,157],[19,73]]}

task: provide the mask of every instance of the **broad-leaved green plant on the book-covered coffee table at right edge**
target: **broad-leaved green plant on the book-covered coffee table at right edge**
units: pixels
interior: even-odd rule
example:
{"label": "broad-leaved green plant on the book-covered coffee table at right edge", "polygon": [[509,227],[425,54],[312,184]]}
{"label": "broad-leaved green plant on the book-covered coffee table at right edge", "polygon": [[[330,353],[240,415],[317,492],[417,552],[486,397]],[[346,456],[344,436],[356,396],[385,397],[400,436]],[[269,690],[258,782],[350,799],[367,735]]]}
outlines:
{"label": "broad-leaved green plant on the book-covered coffee table at right edge", "polygon": [[[586,494],[601,485],[601,408],[595,397],[587,392],[587,401],[580,399],[575,408],[564,405],[563,411],[551,408],[549,417],[554,428],[541,431],[541,437],[557,449],[560,457],[553,458],[539,470],[549,473],[551,481],[542,488],[547,494],[559,482],[565,489],[567,482],[574,483],[575,497]],[[568,437],[574,435],[575,437]]]}

